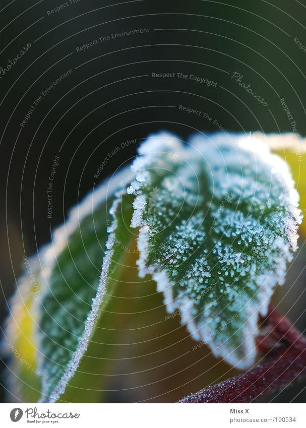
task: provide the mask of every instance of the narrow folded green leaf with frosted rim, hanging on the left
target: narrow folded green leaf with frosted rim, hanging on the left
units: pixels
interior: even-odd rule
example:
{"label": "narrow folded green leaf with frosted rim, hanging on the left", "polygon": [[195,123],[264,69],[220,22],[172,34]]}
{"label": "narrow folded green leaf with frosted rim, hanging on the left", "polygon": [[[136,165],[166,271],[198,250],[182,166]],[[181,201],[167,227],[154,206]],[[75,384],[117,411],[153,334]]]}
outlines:
{"label": "narrow folded green leaf with frosted rim, hanging on the left", "polygon": [[[133,197],[127,195],[125,184],[132,177],[128,167],[91,192],[33,259],[39,291],[35,304],[31,303],[36,307],[31,310],[35,312],[31,321],[41,402],[55,402],[63,394],[87,349],[97,318],[105,310],[123,254],[121,246],[134,236],[126,227],[132,217]],[[125,222],[120,221],[122,216],[127,216]],[[18,290],[26,281],[27,273],[18,281]],[[18,304],[25,304],[19,291],[12,303],[9,326],[16,323]],[[23,326],[18,325],[18,329]],[[16,340],[14,330],[7,329],[11,341]]]}

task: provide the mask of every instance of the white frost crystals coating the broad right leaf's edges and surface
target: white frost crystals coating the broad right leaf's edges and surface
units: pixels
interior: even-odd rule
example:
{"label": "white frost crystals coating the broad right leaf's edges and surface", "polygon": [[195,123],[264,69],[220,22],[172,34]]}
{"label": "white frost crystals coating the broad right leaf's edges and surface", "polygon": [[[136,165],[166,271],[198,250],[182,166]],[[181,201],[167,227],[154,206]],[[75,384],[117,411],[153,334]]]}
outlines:
{"label": "white frost crystals coating the broad right leaf's edges and surface", "polygon": [[[275,140],[275,136],[271,138]],[[173,312],[175,307],[179,308],[181,322],[186,324],[188,331],[195,340],[202,338],[206,343],[209,343],[215,356],[225,358],[230,364],[237,366],[237,368],[246,369],[253,364],[256,355],[255,335],[257,332],[259,314],[265,315],[267,313],[273,289],[276,283],[282,284],[284,282],[286,262],[291,261],[291,253],[297,248],[297,224],[301,222],[301,215],[300,210],[297,208],[299,197],[294,189],[294,182],[288,165],[279,156],[272,154],[266,142],[262,141],[263,139],[260,139],[258,135],[256,138],[250,138],[242,134],[237,134],[233,135],[233,139],[238,154],[236,151],[233,153],[233,150],[231,150],[231,147],[222,133],[213,134],[208,137],[199,135],[191,140],[191,147],[183,146],[177,138],[171,135],[165,135],[164,133],[160,136],[155,135],[154,138],[150,137],[148,141],[144,143],[143,149],[139,150],[142,156],[137,158],[136,162],[134,162],[133,170],[136,173],[136,179],[132,182],[128,192],[136,195],[134,202],[135,210],[131,225],[132,227],[140,227],[138,239],[138,249],[140,251],[138,265],[140,276],[144,277],[146,274],[153,275],[153,279],[157,282],[158,291],[163,291],[164,293],[167,311]],[[267,138],[267,140],[268,139],[269,138]],[[205,316],[199,320],[195,319],[192,310],[193,305],[190,304],[191,300],[187,295],[179,296],[173,300],[172,287],[175,284],[175,277],[173,278],[173,275],[175,276],[175,271],[173,272],[172,270],[172,274],[170,275],[170,270],[165,269],[162,263],[156,263],[151,266],[148,265],[150,237],[154,233],[152,224],[154,222],[158,224],[157,214],[155,214],[156,217],[153,220],[151,216],[151,220],[148,221],[149,217],[146,213],[148,204],[145,189],[146,187],[151,189],[154,185],[154,172],[152,171],[155,169],[166,169],[167,167],[169,169],[171,169],[171,167],[176,168],[179,163],[183,163],[184,161],[196,168],[195,164],[201,157],[207,162],[207,169],[209,170],[209,168],[211,168],[211,170],[214,171],[214,175],[212,176],[214,188],[212,188],[211,191],[215,198],[221,201],[226,195],[229,195],[229,190],[234,190],[234,197],[240,199],[242,196],[246,202],[250,203],[251,212],[253,209],[256,209],[257,212],[260,213],[264,208],[269,209],[272,207],[269,204],[271,203],[270,199],[272,198],[273,200],[273,192],[275,192],[275,200],[279,200],[279,206],[286,212],[286,215],[281,214],[282,217],[280,219],[283,223],[283,229],[280,233],[283,236],[279,238],[275,238],[274,235],[269,234],[265,236],[265,246],[271,246],[271,249],[274,250],[272,255],[269,252],[266,254],[267,262],[270,263],[270,266],[273,265],[273,270],[271,268],[265,270],[264,267],[256,266],[256,264],[253,263],[251,267],[249,266],[248,270],[244,271],[244,267],[242,266],[244,262],[240,260],[239,254],[232,255],[231,251],[227,251],[226,248],[223,249],[226,250],[224,252],[222,252],[221,249],[218,250],[220,253],[218,253],[219,256],[223,258],[223,262],[227,265],[233,265],[235,270],[240,272],[240,275],[246,275],[246,273],[252,272],[255,284],[259,288],[257,302],[250,300],[249,297],[246,298],[247,295],[245,293],[244,297],[243,295],[239,295],[234,287],[229,290],[232,298],[236,297],[237,300],[239,300],[239,305],[236,308],[237,312],[243,310],[243,312],[247,314],[248,319],[248,321],[240,327],[242,329],[242,341],[239,345],[239,349],[232,349],[230,346],[230,337],[223,337],[222,332],[219,332],[216,337],[211,337],[211,333],[216,330],[216,324],[214,324],[215,321],[210,315],[212,309],[210,305],[208,305],[204,311]],[[249,170],[249,172],[246,172],[248,179],[241,178],[241,175],[236,176],[234,173],[228,173],[227,167],[231,170],[232,166],[233,169],[237,166],[241,166],[244,170]],[[183,189],[183,191],[185,191],[183,197],[181,190],[178,188],[179,179],[173,177],[171,181],[169,179],[169,182],[165,181],[163,183],[168,189],[165,198],[171,199],[172,204],[175,204],[176,199],[179,201],[183,198],[186,199],[186,189],[188,190],[189,180],[191,178],[188,174],[182,174],[182,171],[178,171],[178,175],[183,177],[183,185],[186,185],[185,189]],[[248,174],[250,171],[251,175],[249,176]],[[197,168],[194,172],[197,172]],[[269,189],[267,182],[263,184],[261,182],[262,177],[267,180],[270,176],[271,186],[275,186],[275,189]],[[175,187],[175,182],[177,182],[175,185],[177,186],[176,191],[173,189],[173,187]],[[193,180],[191,179],[190,182],[192,184]],[[155,183],[155,185],[158,187],[158,184]],[[164,195],[161,193],[159,198],[162,199],[163,197]],[[201,195],[198,195],[198,200],[199,197],[201,198]],[[263,201],[267,205],[262,206]],[[193,204],[195,204],[195,198],[190,199],[190,206]],[[162,210],[159,202],[156,203],[157,213],[158,210]],[[238,225],[239,212],[229,213],[229,224],[235,221],[234,216],[236,214]],[[276,224],[278,219],[277,215],[278,214],[275,213],[274,220]],[[187,227],[192,225],[191,219],[192,217],[189,219]],[[271,220],[273,220],[273,216],[271,216]],[[263,230],[263,226],[255,221],[254,225],[252,225],[252,227],[254,226],[254,235],[251,234],[250,236],[251,226],[250,224],[248,225],[248,223],[250,223],[249,219],[245,226],[246,236],[249,233],[250,242],[254,241],[255,245],[260,245],[259,233]],[[196,217],[194,217],[194,224],[197,224]],[[226,227],[222,229],[222,224],[221,226],[219,224],[215,226],[215,228],[217,227],[221,228],[220,232],[226,235]],[[167,252],[164,253],[164,258],[169,264],[177,263],[176,258],[180,259],[183,256],[183,254],[181,256],[177,253],[177,249],[182,249],[181,253],[183,253],[184,249],[184,239],[183,234],[181,234],[183,228],[180,226],[179,230],[180,231],[175,234],[175,239],[173,239],[173,236],[168,237],[169,242],[171,241],[172,244],[168,244]],[[191,229],[189,233],[191,233]],[[201,237],[200,230],[197,228],[193,231],[193,236],[195,241],[197,237],[202,241],[204,239],[204,235]],[[186,233],[186,239],[187,237],[188,233]],[[179,238],[181,238],[180,241]],[[175,241],[178,247],[176,247]],[[276,253],[279,254],[279,257],[275,256]],[[175,255],[175,257],[172,257],[172,255]],[[197,260],[196,262],[198,265],[197,270],[194,269],[191,273],[187,273],[187,278],[189,279],[185,281],[191,284],[191,289],[192,287],[198,287],[200,280],[202,284],[209,282],[210,267],[207,266],[205,258]],[[239,263],[241,263],[241,269],[239,268]],[[201,286],[205,289],[206,285]],[[244,300],[241,300],[242,297]],[[237,354],[243,354],[243,358],[238,358]]]}

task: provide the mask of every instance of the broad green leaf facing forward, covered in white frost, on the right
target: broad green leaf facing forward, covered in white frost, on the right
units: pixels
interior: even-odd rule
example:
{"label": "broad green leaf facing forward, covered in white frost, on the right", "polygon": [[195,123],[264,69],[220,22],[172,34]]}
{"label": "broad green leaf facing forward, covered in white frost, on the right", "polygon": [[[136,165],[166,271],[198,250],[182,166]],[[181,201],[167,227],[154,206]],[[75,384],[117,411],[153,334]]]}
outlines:
{"label": "broad green leaf facing forward, covered in white frost, on the right", "polygon": [[189,145],[149,137],[128,192],[136,195],[140,276],[153,275],[168,312],[179,309],[195,340],[246,369],[301,216],[287,164],[260,139],[233,138],[235,151],[222,133]]}

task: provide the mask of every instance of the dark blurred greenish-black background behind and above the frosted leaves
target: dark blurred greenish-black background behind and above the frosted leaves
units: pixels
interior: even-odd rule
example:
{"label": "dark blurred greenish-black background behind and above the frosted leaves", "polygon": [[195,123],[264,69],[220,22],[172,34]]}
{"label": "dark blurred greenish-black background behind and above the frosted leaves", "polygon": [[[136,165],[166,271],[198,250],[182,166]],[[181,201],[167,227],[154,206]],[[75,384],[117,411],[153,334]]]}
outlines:
{"label": "dark blurred greenish-black background behind and above the frosted leaves", "polygon": [[[295,0],[2,2],[2,321],[21,273],[21,257],[47,242],[50,229],[63,222],[69,207],[128,162],[148,134],[168,130],[186,140],[197,130],[216,132],[218,127],[224,133],[290,132],[280,101],[284,98],[298,133],[306,135],[306,52],[298,44],[306,45],[305,12],[305,2]],[[131,30],[142,31],[123,34]],[[235,72],[238,82],[232,78]],[[268,105],[239,82],[250,84]],[[182,111],[180,105],[202,111],[202,117]],[[204,112],[212,119],[203,117]],[[136,143],[109,155],[127,140]],[[48,177],[55,156],[59,164],[48,218]],[[94,174],[105,158],[97,179]],[[289,272],[291,283],[304,266],[303,249],[300,254]],[[292,302],[304,290],[304,280],[301,274],[292,301],[281,303],[301,330],[305,300],[297,300],[293,309]],[[289,388],[275,400],[303,401],[302,389]],[[125,394],[121,400],[129,401],[129,392]]]}

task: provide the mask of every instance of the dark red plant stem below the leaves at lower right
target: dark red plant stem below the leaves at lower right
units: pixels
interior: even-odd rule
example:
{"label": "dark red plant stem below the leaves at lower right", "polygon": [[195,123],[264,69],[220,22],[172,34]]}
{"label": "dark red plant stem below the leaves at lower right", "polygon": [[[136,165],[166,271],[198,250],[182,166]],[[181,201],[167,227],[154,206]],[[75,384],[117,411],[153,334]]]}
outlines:
{"label": "dark red plant stem below the leaves at lower right", "polygon": [[306,379],[306,339],[270,307],[257,348],[266,354],[254,368],[183,398],[179,403],[251,403]]}

